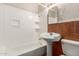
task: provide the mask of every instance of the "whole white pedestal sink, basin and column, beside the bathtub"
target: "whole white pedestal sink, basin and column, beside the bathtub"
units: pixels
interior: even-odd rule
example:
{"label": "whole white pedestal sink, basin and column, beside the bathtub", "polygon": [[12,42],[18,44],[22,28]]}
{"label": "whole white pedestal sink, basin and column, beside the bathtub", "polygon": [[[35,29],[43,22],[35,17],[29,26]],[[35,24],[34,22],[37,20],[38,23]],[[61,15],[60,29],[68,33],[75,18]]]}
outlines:
{"label": "whole white pedestal sink, basin and column, beside the bathtub", "polygon": [[47,42],[47,56],[52,56],[52,43],[59,41],[61,38],[61,35],[58,33],[42,33],[40,35],[41,39],[44,39]]}

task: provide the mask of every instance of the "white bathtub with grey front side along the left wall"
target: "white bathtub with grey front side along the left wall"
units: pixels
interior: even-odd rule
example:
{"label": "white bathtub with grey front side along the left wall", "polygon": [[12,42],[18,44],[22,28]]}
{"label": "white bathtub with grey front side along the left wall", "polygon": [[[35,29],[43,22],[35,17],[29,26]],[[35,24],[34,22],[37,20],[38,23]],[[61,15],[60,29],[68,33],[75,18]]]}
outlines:
{"label": "white bathtub with grey front side along the left wall", "polygon": [[33,49],[16,49],[9,50],[7,52],[0,52],[0,56],[43,56],[46,54],[47,46],[34,47]]}

